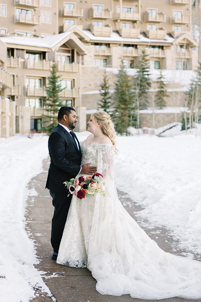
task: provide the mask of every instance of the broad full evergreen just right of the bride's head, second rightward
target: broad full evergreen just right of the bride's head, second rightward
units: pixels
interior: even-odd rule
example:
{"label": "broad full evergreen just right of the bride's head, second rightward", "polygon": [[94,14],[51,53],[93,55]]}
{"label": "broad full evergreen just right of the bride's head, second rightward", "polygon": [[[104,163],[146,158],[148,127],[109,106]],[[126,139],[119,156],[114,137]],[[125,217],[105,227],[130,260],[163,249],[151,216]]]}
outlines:
{"label": "broad full evergreen just right of the bride's head, second rightward", "polygon": [[136,126],[136,114],[134,111],[135,94],[129,76],[124,68],[123,61],[115,83],[115,112],[114,122],[117,133],[130,135],[129,127]]}

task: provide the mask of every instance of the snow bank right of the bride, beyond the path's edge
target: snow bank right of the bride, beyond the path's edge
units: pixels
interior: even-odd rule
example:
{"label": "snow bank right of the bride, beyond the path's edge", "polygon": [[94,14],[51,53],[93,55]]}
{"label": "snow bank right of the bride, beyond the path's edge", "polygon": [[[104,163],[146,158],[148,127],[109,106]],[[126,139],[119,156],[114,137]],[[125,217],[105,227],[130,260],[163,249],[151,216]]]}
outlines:
{"label": "snow bank right of the bride, beyond the path's edge", "polygon": [[118,136],[115,182],[144,208],[137,213],[141,220],[166,226],[181,248],[200,253],[201,138],[180,133],[160,138]]}

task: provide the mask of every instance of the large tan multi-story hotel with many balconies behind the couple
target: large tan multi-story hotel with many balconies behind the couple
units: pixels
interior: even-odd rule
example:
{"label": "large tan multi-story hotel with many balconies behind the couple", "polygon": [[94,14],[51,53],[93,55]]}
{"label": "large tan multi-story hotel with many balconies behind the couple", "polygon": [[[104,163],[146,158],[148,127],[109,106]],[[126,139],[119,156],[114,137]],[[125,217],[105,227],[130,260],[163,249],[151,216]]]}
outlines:
{"label": "large tan multi-story hotel with many balconies behind the couple", "polygon": [[[197,69],[191,0],[152,0],[151,6],[148,0],[0,1],[0,32],[7,36],[2,41],[7,44],[8,68],[14,75],[14,88],[7,93],[17,103],[35,108],[31,109],[31,127],[36,130],[41,119],[36,108],[42,108],[42,87],[53,59],[58,62],[65,91],[74,91],[69,98],[69,92],[65,94],[67,103],[87,109],[97,108],[101,69],[107,68],[113,83],[123,59],[132,74],[143,48],[149,54],[150,69],[159,69],[160,62],[163,69]],[[76,45],[68,41],[60,45],[58,33],[65,33],[67,40],[71,35]],[[53,41],[59,46],[52,47]],[[82,70],[76,64],[82,64]]]}

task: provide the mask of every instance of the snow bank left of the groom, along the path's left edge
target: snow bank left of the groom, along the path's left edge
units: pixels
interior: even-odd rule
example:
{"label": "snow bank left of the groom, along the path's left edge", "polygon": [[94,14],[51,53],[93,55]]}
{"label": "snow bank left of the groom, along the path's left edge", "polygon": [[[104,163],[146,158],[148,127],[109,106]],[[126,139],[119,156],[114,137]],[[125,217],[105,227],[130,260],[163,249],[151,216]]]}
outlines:
{"label": "snow bank left of the groom, along the path's left edge", "polygon": [[34,297],[36,284],[50,294],[34,267],[38,260],[24,222],[26,185],[42,172],[42,160],[48,156],[47,141],[47,136],[36,134],[32,139],[20,135],[0,138],[0,300],[3,302],[28,302]]}

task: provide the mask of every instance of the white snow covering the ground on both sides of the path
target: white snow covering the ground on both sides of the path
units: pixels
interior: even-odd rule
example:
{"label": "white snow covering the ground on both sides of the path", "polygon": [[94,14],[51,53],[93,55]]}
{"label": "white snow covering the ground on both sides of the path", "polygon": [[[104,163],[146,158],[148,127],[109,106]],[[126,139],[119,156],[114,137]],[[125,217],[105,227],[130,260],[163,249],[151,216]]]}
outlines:
{"label": "white snow covering the ground on both sides of the path", "polygon": [[[150,228],[165,226],[179,240],[178,248],[201,253],[201,125],[186,133],[181,123],[174,123],[155,133],[168,127],[172,128],[161,134],[166,137],[133,128],[133,136],[117,136],[115,182],[143,208],[136,213],[140,221],[148,221]],[[76,134],[82,142],[90,133]],[[39,260],[24,218],[27,196],[36,195],[26,186],[42,172],[47,140],[36,134],[32,139],[20,135],[0,139],[0,300],[4,302],[28,302],[35,286],[51,295],[42,272],[34,267]]]}

